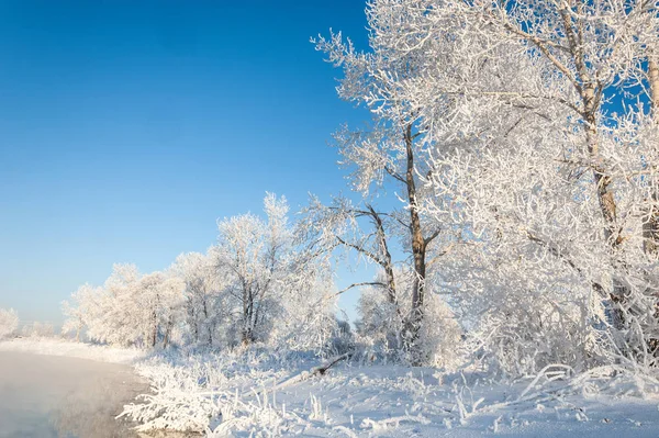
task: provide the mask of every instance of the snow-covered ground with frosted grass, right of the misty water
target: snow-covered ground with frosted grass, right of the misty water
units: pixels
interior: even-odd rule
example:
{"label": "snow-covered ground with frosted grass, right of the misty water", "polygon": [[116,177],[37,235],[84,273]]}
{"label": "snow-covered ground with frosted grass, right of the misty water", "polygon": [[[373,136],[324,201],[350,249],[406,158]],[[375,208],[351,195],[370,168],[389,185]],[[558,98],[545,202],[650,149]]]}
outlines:
{"label": "snow-covered ground with frosted grass, right of the misty water", "polygon": [[154,358],[137,367],[154,393],[126,413],[146,426],[213,437],[659,437],[656,388],[634,378],[502,383],[478,373],[343,364],[300,380],[306,366]]}

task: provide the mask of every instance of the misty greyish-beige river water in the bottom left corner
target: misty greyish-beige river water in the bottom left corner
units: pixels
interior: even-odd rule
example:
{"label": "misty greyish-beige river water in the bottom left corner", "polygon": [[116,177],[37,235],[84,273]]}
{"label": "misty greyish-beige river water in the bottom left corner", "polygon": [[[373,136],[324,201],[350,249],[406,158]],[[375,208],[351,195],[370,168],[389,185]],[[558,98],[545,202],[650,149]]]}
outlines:
{"label": "misty greyish-beige river water in the bottom left corner", "polygon": [[127,366],[0,351],[0,438],[132,437],[114,416],[146,391]]}

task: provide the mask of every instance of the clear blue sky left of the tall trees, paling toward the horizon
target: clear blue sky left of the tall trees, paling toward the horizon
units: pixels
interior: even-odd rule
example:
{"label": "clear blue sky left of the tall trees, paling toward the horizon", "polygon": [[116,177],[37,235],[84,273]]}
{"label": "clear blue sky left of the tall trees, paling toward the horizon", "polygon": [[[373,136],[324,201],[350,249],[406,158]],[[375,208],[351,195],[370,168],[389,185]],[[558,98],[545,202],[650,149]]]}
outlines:
{"label": "clear blue sky left of the tall trees, paling toward the horizon", "polygon": [[[345,190],[364,112],[309,43],[367,44],[365,2],[0,1],[0,307],[59,323],[113,262],[166,268],[215,221]],[[353,295],[354,296],[354,295]]]}

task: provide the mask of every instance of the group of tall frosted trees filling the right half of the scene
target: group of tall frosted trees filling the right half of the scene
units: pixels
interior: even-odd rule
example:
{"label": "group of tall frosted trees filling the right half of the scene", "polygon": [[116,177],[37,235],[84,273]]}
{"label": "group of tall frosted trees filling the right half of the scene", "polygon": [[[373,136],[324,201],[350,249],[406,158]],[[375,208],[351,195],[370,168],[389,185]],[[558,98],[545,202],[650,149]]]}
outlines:
{"label": "group of tall frosted trees filling the right half of the scene", "polygon": [[[373,0],[367,14],[367,53],[340,33],[313,41],[343,68],[339,96],[373,115],[336,136],[362,201],[313,210],[321,235],[381,267],[375,285],[412,360],[423,327],[443,324],[427,315],[435,292],[505,372],[652,366],[656,2]],[[373,189],[401,209],[378,209]],[[370,232],[346,238],[359,217]]]}

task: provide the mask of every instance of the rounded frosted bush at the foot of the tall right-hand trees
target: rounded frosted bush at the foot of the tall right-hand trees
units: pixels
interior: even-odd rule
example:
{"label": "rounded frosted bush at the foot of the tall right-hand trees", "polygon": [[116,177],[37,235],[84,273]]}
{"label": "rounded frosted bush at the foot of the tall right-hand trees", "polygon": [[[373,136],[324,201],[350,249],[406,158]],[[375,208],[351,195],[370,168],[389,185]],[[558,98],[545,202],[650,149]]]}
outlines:
{"label": "rounded frosted bush at the foot of the tall right-hand trees", "polygon": [[507,375],[535,374],[552,363],[576,370],[596,364],[602,304],[578,279],[549,266],[518,276],[525,262],[496,270],[446,265],[446,279],[455,273],[461,284],[457,302],[470,352]]}

